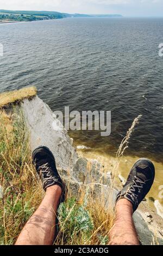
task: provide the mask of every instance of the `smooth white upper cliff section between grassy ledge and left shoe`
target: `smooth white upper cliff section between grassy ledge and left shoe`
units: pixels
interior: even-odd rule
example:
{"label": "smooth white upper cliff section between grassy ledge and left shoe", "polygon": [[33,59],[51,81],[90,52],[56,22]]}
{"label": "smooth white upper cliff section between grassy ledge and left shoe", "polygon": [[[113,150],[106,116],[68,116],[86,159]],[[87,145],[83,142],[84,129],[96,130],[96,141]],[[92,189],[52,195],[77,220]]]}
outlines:
{"label": "smooth white upper cliff section between grassy ledge and left shoe", "polygon": [[48,105],[36,96],[30,101],[24,99],[21,106],[30,130],[31,150],[40,145],[47,146],[59,168],[72,168],[78,159],[73,141]]}

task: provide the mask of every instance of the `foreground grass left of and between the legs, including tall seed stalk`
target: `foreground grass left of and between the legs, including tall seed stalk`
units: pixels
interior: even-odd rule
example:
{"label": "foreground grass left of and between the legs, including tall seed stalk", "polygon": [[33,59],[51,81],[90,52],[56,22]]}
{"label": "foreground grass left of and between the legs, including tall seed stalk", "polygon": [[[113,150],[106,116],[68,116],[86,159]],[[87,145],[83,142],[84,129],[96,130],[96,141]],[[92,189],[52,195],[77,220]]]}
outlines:
{"label": "foreground grass left of and between the legs, including tall seed stalk", "polygon": [[[14,244],[24,224],[43,197],[41,182],[37,180],[32,165],[27,134],[23,115],[17,107],[14,114],[7,115],[4,110],[0,110],[0,184],[4,194],[0,201],[0,244],[2,245]],[[116,166],[117,163],[115,168]],[[111,187],[113,183],[114,180]],[[60,231],[55,244],[108,244],[109,231],[115,218],[114,211],[111,210],[112,206],[105,209],[103,194],[96,198],[87,188],[80,190],[79,195],[76,200],[69,191],[66,203],[60,205],[58,213]]]}

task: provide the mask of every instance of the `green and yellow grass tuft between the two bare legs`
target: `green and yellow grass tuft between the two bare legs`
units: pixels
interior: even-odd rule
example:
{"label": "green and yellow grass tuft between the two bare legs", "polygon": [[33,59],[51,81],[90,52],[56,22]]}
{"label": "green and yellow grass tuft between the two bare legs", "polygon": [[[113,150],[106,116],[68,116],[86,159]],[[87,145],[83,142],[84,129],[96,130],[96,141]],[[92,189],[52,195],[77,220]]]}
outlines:
{"label": "green and yellow grass tuft between the two bare legs", "polygon": [[104,210],[101,200],[89,197],[87,203],[69,198],[58,209],[60,231],[56,245],[107,245],[114,215]]}

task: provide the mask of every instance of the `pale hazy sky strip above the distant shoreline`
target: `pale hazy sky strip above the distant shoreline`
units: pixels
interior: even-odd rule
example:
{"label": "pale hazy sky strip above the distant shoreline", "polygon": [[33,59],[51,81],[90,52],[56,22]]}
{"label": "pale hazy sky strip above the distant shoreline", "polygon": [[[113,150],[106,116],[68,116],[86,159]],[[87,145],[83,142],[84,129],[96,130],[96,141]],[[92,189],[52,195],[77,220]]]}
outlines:
{"label": "pale hazy sky strip above the distant shoreline", "polygon": [[0,9],[163,16],[163,0],[0,0]]}

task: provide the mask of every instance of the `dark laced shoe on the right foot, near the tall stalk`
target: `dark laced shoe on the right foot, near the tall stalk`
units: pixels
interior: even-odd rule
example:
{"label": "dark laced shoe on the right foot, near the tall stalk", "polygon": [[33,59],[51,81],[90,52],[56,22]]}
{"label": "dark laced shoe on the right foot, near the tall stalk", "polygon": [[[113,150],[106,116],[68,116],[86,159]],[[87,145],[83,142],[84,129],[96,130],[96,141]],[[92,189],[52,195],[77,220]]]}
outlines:
{"label": "dark laced shoe on the right foot, near the tall stalk", "polygon": [[127,182],[116,198],[127,199],[136,211],[141,201],[146,197],[154,182],[155,169],[153,163],[146,158],[139,159],[133,166]]}

